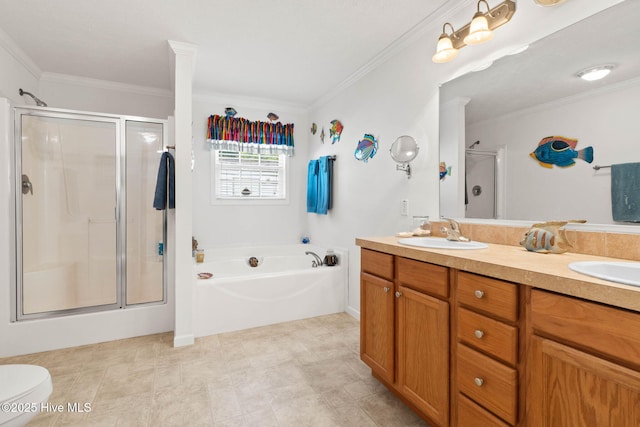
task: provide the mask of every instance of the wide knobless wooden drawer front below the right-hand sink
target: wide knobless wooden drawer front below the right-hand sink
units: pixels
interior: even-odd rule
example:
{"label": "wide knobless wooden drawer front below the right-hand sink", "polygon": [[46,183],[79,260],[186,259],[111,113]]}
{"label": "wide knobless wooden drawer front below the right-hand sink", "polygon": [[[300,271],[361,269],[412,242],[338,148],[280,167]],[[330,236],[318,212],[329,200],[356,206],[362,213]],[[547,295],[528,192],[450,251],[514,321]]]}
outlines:
{"label": "wide knobless wooden drawer front below the right-hand sink", "polygon": [[640,313],[534,289],[533,329],[640,367]]}

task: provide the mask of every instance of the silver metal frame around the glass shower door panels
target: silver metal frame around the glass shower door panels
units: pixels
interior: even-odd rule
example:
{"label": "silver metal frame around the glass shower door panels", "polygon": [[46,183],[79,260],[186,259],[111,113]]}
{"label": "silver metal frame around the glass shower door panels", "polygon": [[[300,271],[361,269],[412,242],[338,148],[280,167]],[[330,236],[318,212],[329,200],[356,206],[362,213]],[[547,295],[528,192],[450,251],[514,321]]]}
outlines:
{"label": "silver metal frame around the glass shower door panels", "polygon": [[[38,313],[24,314],[23,308],[23,244],[22,244],[22,116],[52,117],[56,119],[85,120],[93,122],[114,123],[115,124],[115,190],[116,190],[116,302],[88,307],[76,307],[63,310],[44,311]],[[140,307],[150,305],[160,305],[167,303],[167,263],[162,262],[162,300],[147,303],[127,304],[126,281],[127,281],[127,209],[126,209],[126,123],[127,121],[144,122],[162,125],[163,145],[167,145],[168,120],[153,119],[139,116],[124,116],[103,113],[91,113],[84,111],[58,109],[50,107],[33,106],[13,106],[11,108],[13,123],[13,144],[10,150],[13,157],[11,171],[11,200],[10,210],[13,216],[12,235],[10,236],[12,250],[11,259],[11,322],[18,322],[32,319],[43,319],[52,317],[69,316],[83,313],[94,313],[108,310],[126,309],[128,307]],[[162,215],[162,241],[164,242],[164,254],[167,253],[167,213]]]}

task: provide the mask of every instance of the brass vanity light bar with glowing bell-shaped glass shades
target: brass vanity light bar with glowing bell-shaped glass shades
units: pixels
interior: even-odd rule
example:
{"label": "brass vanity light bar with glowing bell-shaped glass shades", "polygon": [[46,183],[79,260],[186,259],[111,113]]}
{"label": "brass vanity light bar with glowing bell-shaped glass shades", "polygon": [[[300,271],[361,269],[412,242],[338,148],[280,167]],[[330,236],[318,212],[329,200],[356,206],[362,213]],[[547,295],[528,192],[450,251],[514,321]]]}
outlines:
{"label": "brass vanity light bar with glowing bell-shaped glass shades", "polygon": [[[487,12],[480,12],[481,3],[487,6]],[[515,11],[516,3],[513,0],[504,0],[493,9],[489,8],[486,0],[479,0],[477,12],[470,23],[457,31],[454,31],[453,25],[448,22],[442,26],[436,53],[431,59],[436,63],[448,62],[454,59],[458,55],[458,50],[464,46],[490,40],[493,37],[493,30],[509,22]],[[446,32],[447,25],[451,27],[451,34]]]}

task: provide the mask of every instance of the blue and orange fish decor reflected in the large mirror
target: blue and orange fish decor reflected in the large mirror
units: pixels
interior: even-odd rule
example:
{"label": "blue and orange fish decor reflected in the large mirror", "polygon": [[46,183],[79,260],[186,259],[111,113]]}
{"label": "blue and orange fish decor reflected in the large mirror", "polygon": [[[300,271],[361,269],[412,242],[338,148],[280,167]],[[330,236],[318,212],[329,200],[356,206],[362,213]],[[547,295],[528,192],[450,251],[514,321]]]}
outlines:
{"label": "blue and orange fish decor reflected in the large mirror", "polygon": [[538,148],[529,154],[536,159],[540,166],[551,168],[553,165],[566,168],[573,166],[575,158],[587,163],[593,162],[593,147],[576,150],[578,140],[564,136],[547,136],[538,143]]}

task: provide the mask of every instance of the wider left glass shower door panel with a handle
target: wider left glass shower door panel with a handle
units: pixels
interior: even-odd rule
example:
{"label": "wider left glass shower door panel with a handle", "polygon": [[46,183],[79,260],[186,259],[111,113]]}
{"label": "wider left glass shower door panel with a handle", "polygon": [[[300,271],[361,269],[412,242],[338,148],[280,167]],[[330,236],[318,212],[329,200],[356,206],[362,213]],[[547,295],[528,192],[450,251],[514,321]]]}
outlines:
{"label": "wider left glass shower door panel with a handle", "polygon": [[18,317],[117,306],[118,119],[17,112],[16,120]]}

